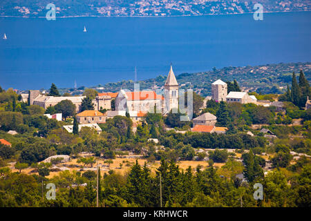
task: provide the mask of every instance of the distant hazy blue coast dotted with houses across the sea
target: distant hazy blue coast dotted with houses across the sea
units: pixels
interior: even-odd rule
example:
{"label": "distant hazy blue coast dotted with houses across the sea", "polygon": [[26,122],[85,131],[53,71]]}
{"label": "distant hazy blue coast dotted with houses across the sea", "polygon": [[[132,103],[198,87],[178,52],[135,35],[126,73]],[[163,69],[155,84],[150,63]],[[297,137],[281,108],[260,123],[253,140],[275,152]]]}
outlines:
{"label": "distant hazy blue coast dotted with houses across the sea", "polygon": [[261,3],[265,12],[310,11],[308,0],[1,0],[0,16],[45,17],[53,2],[57,17],[71,16],[176,16],[254,12]]}

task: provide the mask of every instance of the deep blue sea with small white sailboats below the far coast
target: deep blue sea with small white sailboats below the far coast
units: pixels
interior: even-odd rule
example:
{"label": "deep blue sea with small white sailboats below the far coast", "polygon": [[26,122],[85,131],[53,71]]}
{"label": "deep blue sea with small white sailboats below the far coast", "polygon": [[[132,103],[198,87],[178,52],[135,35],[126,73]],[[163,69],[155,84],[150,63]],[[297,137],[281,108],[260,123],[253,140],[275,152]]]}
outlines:
{"label": "deep blue sea with small white sailboats below the far coast", "polygon": [[180,74],[311,61],[311,12],[252,16],[0,18],[0,86],[97,86],[134,79],[135,66],[148,79],[171,62]]}

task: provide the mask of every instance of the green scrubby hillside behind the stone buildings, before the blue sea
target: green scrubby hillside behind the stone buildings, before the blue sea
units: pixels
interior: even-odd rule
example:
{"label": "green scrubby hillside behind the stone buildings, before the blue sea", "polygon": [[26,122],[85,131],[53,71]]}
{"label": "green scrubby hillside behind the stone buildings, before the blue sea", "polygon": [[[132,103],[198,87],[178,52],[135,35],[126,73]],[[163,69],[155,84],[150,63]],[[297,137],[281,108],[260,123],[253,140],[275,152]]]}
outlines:
{"label": "green scrubby hillside behind the stone buildings, before the blue sea", "polygon": [[[288,63],[288,64],[266,64],[262,66],[245,66],[245,67],[225,67],[221,69],[214,68],[201,73],[182,73],[177,75],[178,84],[180,88],[193,88],[197,93],[202,96],[211,94],[211,83],[217,79],[223,81],[232,81],[236,79],[238,84],[245,91],[256,91],[257,93],[283,93],[287,84],[291,84],[292,72],[299,75],[299,71],[303,70],[305,77],[311,81],[311,62],[305,63]],[[167,76],[159,75],[155,79],[147,79],[138,81],[140,89],[147,88],[161,88],[164,85]],[[123,80],[115,83],[108,83],[105,85],[98,85],[96,90],[116,92],[120,88],[133,90],[133,81]],[[104,89],[102,89],[104,88]],[[78,88],[79,90],[70,89],[73,94],[82,93],[84,87]],[[66,90],[62,90],[64,93]]]}

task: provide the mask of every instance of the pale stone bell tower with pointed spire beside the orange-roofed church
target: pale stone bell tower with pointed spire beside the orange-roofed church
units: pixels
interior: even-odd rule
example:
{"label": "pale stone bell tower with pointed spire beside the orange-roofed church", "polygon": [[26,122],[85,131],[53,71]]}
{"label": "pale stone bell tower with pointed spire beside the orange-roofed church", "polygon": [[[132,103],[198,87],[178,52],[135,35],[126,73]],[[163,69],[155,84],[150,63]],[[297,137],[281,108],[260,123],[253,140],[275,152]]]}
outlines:
{"label": "pale stone bell tower with pointed spire beside the orange-roofed church", "polygon": [[178,83],[172,67],[164,84],[164,100],[164,114],[169,113],[172,108],[178,108]]}

